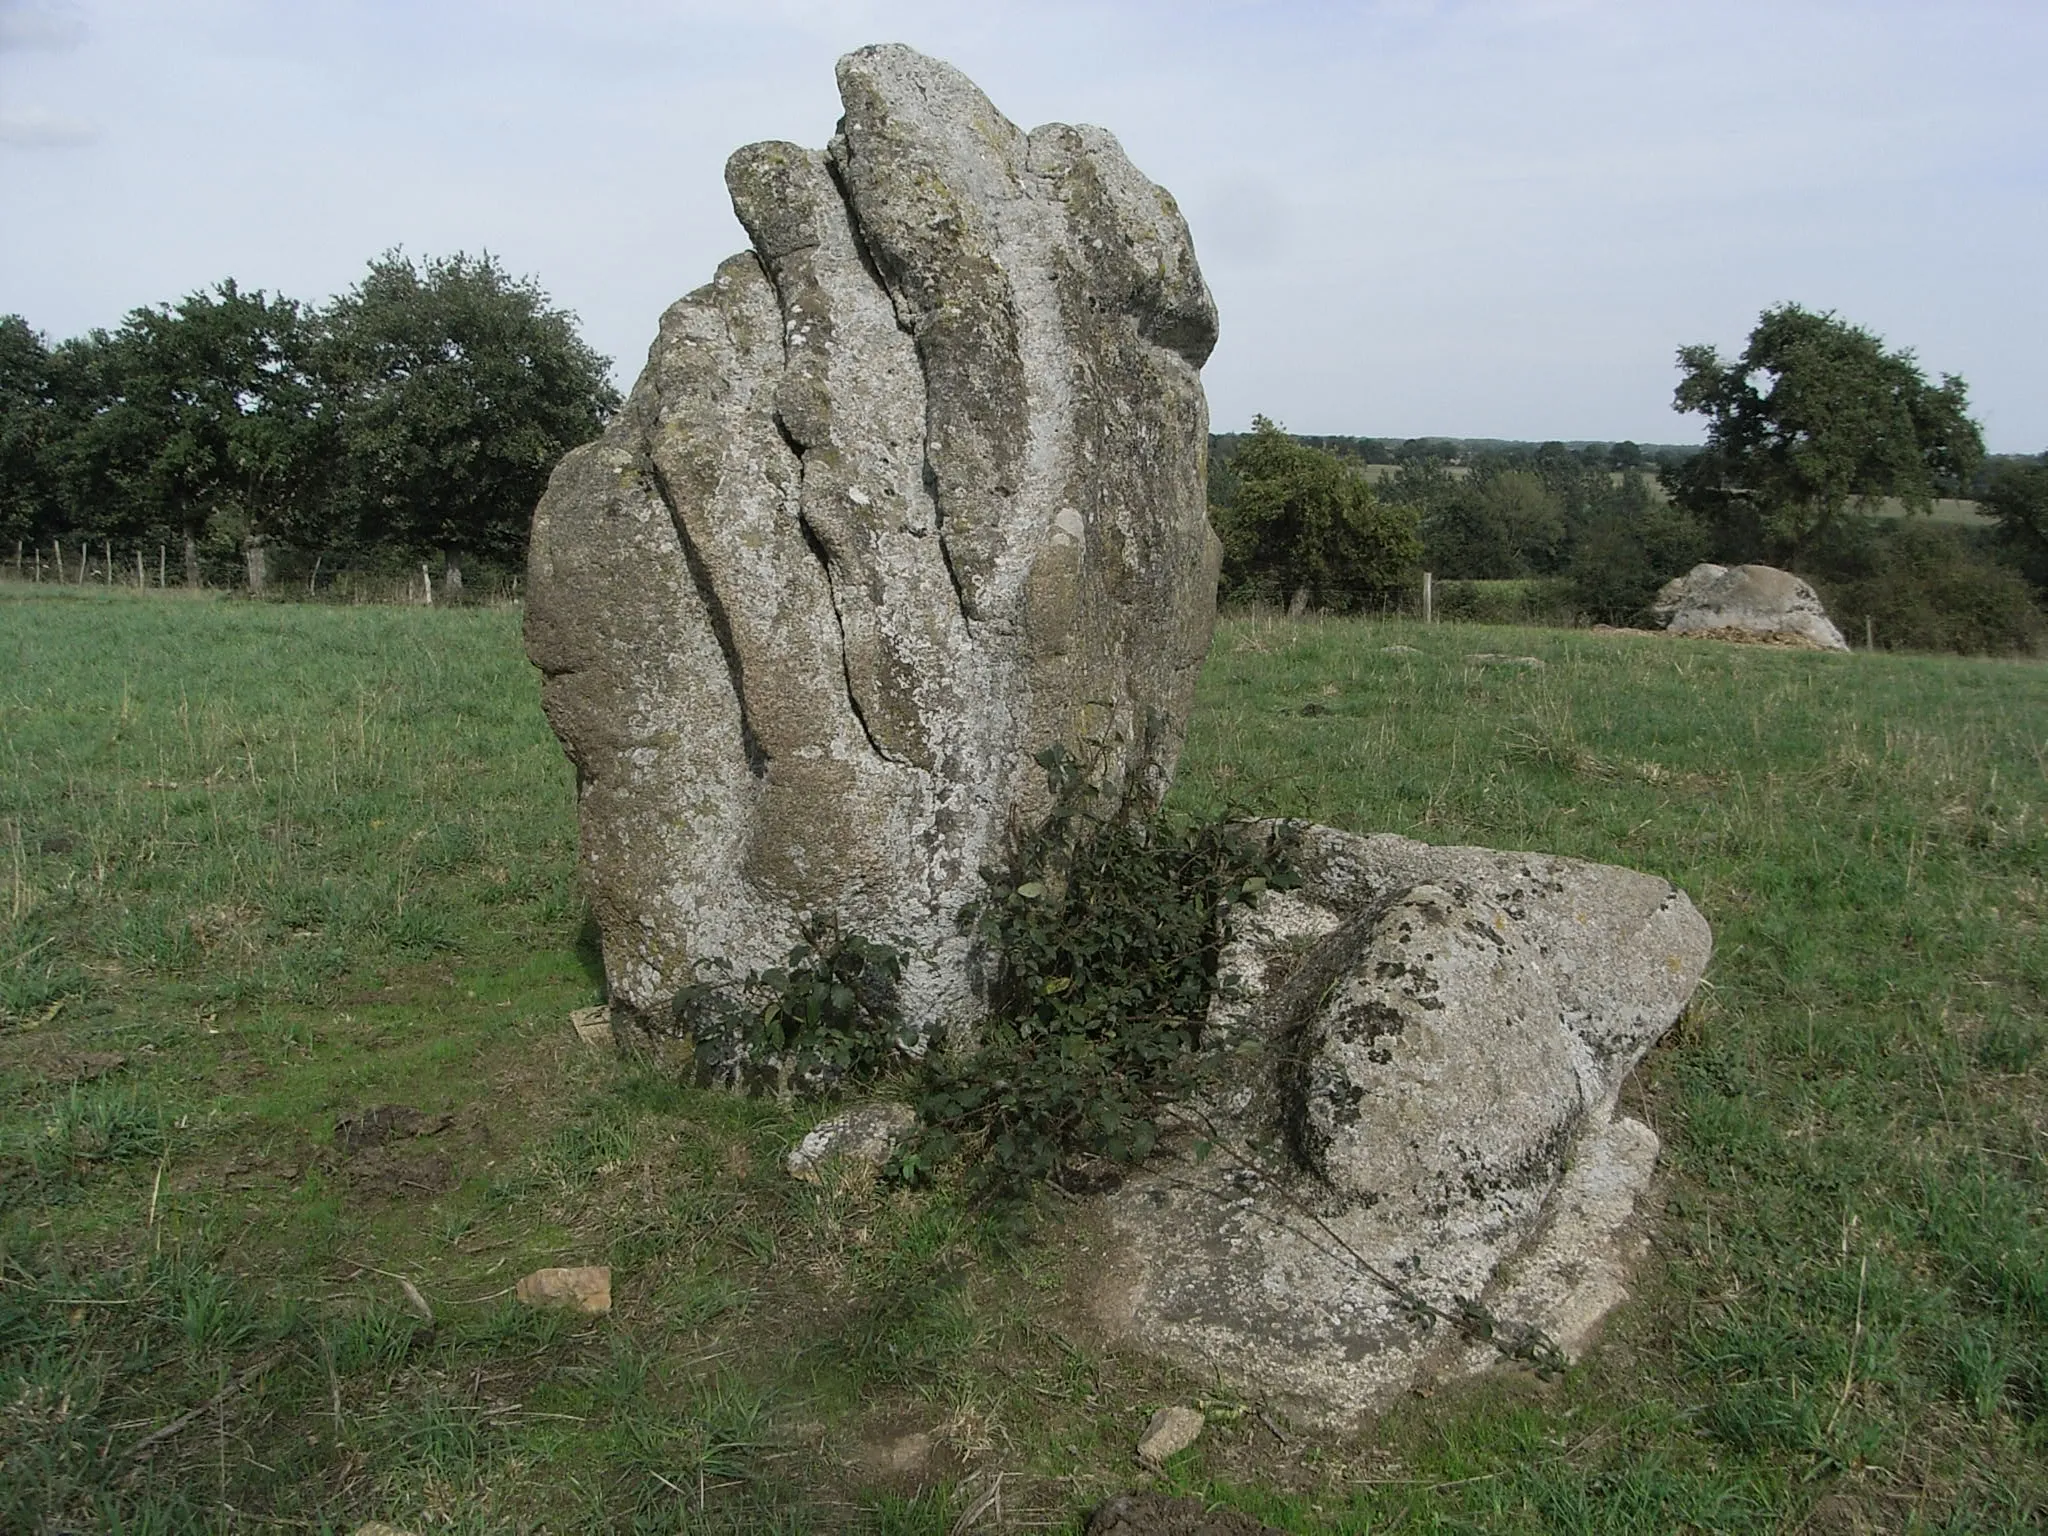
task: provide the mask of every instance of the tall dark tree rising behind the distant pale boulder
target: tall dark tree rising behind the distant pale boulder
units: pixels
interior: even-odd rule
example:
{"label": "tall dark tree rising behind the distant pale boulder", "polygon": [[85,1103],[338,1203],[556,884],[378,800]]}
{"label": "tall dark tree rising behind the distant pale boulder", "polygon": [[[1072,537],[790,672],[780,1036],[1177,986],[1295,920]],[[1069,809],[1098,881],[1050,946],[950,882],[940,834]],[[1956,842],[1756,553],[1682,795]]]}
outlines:
{"label": "tall dark tree rising behind the distant pale boulder", "polygon": [[1985,455],[1956,375],[1929,385],[1913,352],[1796,303],[1765,309],[1743,354],[1681,346],[1673,408],[1706,416],[1677,500],[1731,559],[1798,559],[1841,512],[1896,496],[1927,512]]}

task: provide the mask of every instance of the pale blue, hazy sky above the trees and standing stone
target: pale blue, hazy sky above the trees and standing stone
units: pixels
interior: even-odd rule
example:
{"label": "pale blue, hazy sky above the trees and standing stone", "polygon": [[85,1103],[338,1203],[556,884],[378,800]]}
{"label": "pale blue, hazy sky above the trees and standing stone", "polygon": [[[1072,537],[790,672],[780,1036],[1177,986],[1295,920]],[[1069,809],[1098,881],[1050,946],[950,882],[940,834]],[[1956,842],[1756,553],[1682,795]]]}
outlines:
{"label": "pale blue, hazy sky above the trees and standing stone", "polygon": [[2048,0],[0,0],[0,313],[487,250],[627,385],[881,41],[1176,195],[1217,430],[1690,442],[1794,301],[2048,449]]}

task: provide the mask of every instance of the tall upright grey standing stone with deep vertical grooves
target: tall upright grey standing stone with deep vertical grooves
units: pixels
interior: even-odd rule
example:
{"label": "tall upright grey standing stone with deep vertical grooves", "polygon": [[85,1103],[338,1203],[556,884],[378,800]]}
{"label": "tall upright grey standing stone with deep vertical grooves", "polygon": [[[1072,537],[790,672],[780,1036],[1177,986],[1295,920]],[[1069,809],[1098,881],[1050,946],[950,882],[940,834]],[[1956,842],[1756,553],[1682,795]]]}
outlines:
{"label": "tall upright grey standing stone with deep vertical grooves", "polygon": [[1155,801],[1214,623],[1217,311],[1174,201],[911,49],[838,76],[825,152],[731,158],[754,248],[535,512],[526,647],[643,1014],[815,911],[913,952],[922,1024],[965,1016],[954,920],[1032,756],[1104,743],[1106,795]]}

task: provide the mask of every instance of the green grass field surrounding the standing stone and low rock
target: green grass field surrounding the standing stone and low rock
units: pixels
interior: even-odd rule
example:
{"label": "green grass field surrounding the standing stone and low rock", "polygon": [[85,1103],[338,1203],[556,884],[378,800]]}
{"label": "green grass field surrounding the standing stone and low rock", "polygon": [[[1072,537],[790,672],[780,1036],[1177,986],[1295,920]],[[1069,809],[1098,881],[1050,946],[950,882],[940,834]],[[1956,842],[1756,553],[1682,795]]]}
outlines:
{"label": "green grass field surrounding the standing stone and low rock", "polygon": [[[2048,1520],[2040,664],[1223,627],[1188,807],[1632,864],[1718,944],[1604,1346],[1286,1442],[1073,1321],[1075,1212],[793,1184],[819,1110],[578,1042],[514,610],[0,588],[0,1530],[1079,1530],[1169,1401],[1163,1485],[1298,1532]],[[610,1317],[506,1296],[575,1262]]]}

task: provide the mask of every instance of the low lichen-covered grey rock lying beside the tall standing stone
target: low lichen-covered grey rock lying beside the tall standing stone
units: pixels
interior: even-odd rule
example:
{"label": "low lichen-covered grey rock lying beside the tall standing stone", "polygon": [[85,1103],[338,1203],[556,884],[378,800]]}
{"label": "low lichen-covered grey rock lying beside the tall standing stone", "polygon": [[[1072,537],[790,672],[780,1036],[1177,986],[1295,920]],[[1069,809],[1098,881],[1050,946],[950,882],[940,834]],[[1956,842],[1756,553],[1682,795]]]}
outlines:
{"label": "low lichen-covered grey rock lying beside the tall standing stone", "polygon": [[[1587,1346],[1657,1157],[1616,1098],[1712,940],[1649,874],[1294,831],[1305,885],[1223,956],[1208,1038],[1231,1087],[1112,1196],[1124,1251],[1098,1305],[1343,1423],[1518,1348]],[[1501,1348],[1446,1321],[1481,1311]]]}

